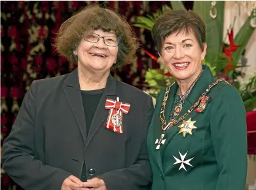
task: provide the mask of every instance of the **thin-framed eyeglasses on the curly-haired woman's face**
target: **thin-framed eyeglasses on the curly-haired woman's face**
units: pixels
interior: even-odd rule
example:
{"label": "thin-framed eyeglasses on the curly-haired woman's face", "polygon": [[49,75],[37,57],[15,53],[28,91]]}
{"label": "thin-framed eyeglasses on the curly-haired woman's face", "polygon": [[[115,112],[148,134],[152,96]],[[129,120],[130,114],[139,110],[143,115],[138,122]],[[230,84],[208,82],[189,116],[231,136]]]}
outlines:
{"label": "thin-framed eyeglasses on the curly-haired woman's face", "polygon": [[97,43],[100,39],[103,39],[104,44],[107,46],[118,46],[120,39],[118,37],[101,37],[100,35],[93,33],[92,35],[84,35],[84,40],[87,42]]}

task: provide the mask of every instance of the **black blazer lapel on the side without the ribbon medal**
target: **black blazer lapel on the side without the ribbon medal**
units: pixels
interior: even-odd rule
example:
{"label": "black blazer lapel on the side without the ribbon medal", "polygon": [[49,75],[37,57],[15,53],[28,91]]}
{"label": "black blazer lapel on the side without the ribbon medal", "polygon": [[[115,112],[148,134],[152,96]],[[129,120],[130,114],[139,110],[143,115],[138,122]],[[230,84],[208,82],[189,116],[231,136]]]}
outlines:
{"label": "black blazer lapel on the side without the ribbon medal", "polygon": [[79,78],[77,69],[69,74],[64,82],[64,94],[69,103],[69,106],[77,120],[79,129],[82,133],[84,143],[86,142],[86,122],[84,117],[84,108],[82,104],[81,89],[79,85]]}

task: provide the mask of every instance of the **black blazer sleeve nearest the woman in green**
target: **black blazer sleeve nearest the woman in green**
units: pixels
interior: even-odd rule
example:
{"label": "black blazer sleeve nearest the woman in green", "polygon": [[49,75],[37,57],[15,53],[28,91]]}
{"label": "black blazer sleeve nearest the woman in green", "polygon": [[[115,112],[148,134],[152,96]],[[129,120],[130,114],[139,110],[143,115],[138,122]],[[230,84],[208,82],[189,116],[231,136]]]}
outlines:
{"label": "black blazer sleeve nearest the woman in green", "polygon": [[152,98],[148,97],[144,107],[144,126],[143,140],[137,157],[137,162],[129,168],[113,170],[98,176],[101,178],[107,187],[107,190],[142,190],[150,189],[152,182],[152,171],[149,163],[149,155],[147,153],[147,130],[153,113]]}

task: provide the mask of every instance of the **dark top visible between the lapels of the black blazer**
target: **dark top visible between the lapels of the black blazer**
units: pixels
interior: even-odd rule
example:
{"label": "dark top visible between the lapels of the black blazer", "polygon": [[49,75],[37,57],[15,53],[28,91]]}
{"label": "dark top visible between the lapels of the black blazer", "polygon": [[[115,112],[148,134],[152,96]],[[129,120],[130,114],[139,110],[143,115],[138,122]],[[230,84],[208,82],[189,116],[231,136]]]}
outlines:
{"label": "dark top visible between the lapels of the black blazer", "polygon": [[100,102],[101,96],[103,95],[104,89],[105,88],[88,91],[81,90],[87,135],[90,129],[90,124],[92,123],[92,119],[94,118],[97,106]]}

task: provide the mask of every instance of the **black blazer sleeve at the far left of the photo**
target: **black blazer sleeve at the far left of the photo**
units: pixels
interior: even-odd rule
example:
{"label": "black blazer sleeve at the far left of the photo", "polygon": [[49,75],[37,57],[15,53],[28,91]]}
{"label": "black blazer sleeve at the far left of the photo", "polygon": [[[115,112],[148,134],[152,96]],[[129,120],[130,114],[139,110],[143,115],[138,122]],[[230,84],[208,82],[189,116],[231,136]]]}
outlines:
{"label": "black blazer sleeve at the far left of the photo", "polygon": [[36,102],[36,82],[33,82],[3,144],[3,168],[14,182],[26,190],[61,189],[65,178],[71,174],[44,165],[35,156]]}

